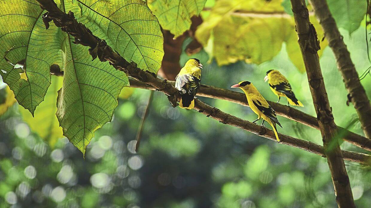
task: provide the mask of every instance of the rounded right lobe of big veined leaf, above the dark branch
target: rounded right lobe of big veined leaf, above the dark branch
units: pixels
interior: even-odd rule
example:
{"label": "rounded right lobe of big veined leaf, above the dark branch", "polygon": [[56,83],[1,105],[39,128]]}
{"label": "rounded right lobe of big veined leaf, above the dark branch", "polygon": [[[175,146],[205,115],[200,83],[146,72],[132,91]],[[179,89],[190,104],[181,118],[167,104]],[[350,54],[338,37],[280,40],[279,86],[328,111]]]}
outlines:
{"label": "rounded right lobe of big veined leaf, above the dark branch", "polygon": [[[157,18],[141,0],[68,0],[66,11],[126,60],[157,73],[164,56],[164,38]],[[66,0],[65,0],[66,2]]]}

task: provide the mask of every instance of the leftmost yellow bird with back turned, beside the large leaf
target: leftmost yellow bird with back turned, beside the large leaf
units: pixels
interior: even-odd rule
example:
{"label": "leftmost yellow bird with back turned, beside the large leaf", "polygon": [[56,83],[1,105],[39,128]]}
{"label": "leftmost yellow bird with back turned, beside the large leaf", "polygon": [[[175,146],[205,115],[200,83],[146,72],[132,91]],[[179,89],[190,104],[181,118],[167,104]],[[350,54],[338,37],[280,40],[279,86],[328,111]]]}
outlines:
{"label": "leftmost yellow bird with back turned, beside the large leaf", "polygon": [[198,59],[190,59],[185,63],[175,78],[175,88],[180,91],[180,108],[193,109],[194,96],[200,88],[202,64]]}

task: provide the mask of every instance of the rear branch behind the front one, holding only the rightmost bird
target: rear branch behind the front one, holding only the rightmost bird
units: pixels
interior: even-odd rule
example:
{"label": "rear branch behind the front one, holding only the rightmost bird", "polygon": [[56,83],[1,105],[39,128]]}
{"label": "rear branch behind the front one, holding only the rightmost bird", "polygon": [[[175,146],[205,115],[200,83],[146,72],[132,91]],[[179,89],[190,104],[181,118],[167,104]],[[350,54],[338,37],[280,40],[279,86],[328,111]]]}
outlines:
{"label": "rear branch behind the front one, holding only the rightmost bird", "polygon": [[[155,90],[150,85],[146,85],[143,82],[140,82],[138,80],[132,79],[129,77],[130,80],[130,86],[134,88],[142,88],[142,89],[149,89],[149,90]],[[171,85],[174,86],[175,82],[168,81]],[[246,96],[243,93],[222,89],[222,88],[216,88],[214,86],[208,86],[208,85],[201,85],[200,90],[197,92],[197,96],[207,97],[207,98],[216,98],[221,100],[228,100],[230,102],[238,103],[240,105],[249,106],[246,100]],[[315,117],[304,113],[298,109],[292,108],[287,105],[282,105],[276,102],[272,102],[267,100],[269,105],[272,106],[273,109],[275,109],[275,112],[285,118],[294,120],[296,122],[302,123],[304,125],[310,126],[315,129],[319,129],[318,121]],[[342,127],[338,126],[339,132],[345,132],[344,134],[344,141],[347,141],[349,143],[352,143],[356,146],[359,146],[362,149],[366,149],[368,151],[371,151],[371,139],[365,138],[361,135],[358,135],[354,132],[348,131],[347,129],[344,129]]]}

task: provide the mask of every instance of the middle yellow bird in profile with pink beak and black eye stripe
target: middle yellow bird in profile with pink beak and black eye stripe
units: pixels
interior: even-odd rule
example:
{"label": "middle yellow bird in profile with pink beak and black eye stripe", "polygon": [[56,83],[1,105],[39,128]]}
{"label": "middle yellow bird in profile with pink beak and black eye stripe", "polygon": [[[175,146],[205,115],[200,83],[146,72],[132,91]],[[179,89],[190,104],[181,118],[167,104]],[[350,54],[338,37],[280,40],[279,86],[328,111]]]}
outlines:
{"label": "middle yellow bird in profile with pink beak and black eye stripe", "polygon": [[245,93],[247,98],[247,103],[251,110],[256,113],[258,116],[253,123],[256,123],[257,120],[263,119],[262,126],[264,121],[266,120],[270,126],[272,126],[273,131],[275,132],[276,139],[280,142],[276,124],[278,124],[281,128],[281,124],[279,123],[275,110],[268,104],[267,100],[263,98],[259,91],[257,91],[256,87],[249,81],[242,81],[236,85],[232,85],[231,88],[240,88]]}

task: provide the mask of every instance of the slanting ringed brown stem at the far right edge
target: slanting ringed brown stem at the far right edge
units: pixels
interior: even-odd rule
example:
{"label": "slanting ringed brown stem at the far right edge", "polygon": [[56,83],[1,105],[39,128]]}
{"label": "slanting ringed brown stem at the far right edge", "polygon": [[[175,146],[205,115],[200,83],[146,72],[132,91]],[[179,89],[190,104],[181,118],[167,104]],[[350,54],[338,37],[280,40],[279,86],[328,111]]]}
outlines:
{"label": "slanting ringed brown stem at the far right edge", "polygon": [[343,77],[345,88],[348,90],[348,98],[352,101],[357,111],[359,121],[367,138],[371,136],[371,106],[365,89],[359,81],[358,73],[350,57],[350,53],[345,45],[343,36],[340,34],[336,22],[332,17],[326,1],[311,0],[316,17],[326,34],[329,46],[334,52],[336,65]]}

